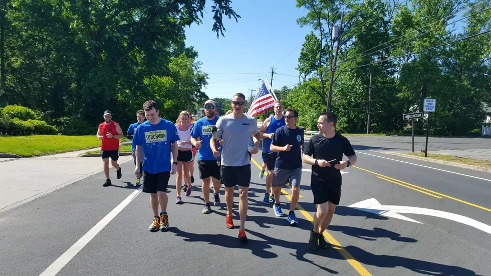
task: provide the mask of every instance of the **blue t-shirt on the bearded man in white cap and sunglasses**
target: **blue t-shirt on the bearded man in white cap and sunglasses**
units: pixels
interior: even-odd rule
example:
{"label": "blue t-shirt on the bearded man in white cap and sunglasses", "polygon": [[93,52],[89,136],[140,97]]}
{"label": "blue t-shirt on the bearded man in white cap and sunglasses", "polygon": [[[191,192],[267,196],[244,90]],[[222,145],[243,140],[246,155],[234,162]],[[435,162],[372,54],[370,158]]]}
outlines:
{"label": "blue t-shirt on the bearded man in white cap and sunglasses", "polygon": [[[211,140],[211,129],[215,126],[216,121],[218,121],[218,116],[215,116],[213,120],[208,120],[206,117],[199,119],[194,124],[193,130],[191,131],[191,137],[194,139],[201,140],[201,148],[198,149],[198,160],[216,160],[213,157],[213,151],[210,148]],[[218,145],[218,147],[221,147]],[[220,149],[221,152],[221,149]]]}

